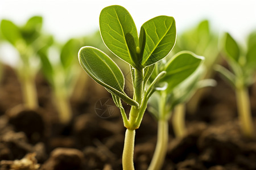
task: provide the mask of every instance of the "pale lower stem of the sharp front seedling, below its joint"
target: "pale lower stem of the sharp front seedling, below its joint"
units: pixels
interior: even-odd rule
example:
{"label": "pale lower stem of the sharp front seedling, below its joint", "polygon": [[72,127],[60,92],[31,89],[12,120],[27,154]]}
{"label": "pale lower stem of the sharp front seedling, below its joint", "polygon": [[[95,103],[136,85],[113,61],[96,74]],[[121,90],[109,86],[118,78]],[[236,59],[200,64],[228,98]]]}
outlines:
{"label": "pale lower stem of the sharp front seedling, below its joint", "polygon": [[125,144],[123,146],[122,165],[123,170],[134,170],[133,152],[134,152],[135,130],[126,129]]}

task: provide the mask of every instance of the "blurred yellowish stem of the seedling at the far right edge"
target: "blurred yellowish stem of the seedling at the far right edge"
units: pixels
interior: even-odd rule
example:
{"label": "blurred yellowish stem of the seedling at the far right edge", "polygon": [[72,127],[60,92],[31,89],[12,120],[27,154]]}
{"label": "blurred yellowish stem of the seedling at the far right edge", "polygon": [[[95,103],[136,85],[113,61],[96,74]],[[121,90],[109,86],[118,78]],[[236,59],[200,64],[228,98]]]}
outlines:
{"label": "blurred yellowish stem of the seedling at the far right edge", "polygon": [[254,137],[253,119],[250,111],[250,99],[246,87],[236,88],[238,115],[241,121],[242,133],[248,137]]}

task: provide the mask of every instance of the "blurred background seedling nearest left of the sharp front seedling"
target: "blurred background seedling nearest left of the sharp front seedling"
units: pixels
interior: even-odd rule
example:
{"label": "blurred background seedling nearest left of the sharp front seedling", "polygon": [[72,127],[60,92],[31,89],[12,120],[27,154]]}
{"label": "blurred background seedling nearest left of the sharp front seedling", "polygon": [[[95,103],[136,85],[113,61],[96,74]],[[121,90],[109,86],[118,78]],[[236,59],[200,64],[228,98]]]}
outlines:
{"label": "blurred background seedling nearest left of the sharp front seedling", "polygon": [[67,124],[72,118],[69,99],[73,82],[79,73],[79,67],[75,63],[79,45],[78,40],[71,39],[60,47],[55,44],[39,51],[42,71],[53,89],[53,98],[62,124]]}

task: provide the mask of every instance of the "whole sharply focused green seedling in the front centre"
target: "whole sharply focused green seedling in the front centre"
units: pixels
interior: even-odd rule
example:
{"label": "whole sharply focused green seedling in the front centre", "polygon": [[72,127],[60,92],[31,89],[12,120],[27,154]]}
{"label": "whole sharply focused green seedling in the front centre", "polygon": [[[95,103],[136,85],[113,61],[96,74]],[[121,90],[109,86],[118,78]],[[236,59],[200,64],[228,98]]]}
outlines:
{"label": "whole sharply focused green seedling in the front centre", "polygon": [[[129,12],[122,6],[105,7],[100,14],[102,40],[115,56],[130,65],[134,96],[125,94],[125,80],[115,62],[96,48],[84,46],[79,51],[79,62],[92,79],[108,90],[121,111],[123,124],[127,128],[123,147],[123,169],[134,169],[133,152],[135,129],[141,125],[147,101],[155,91],[155,84],[166,71],[159,73],[146,88],[146,83],[156,62],[171,51],[176,40],[175,20],[171,16],[157,16],[137,28]],[[121,100],[131,105],[129,118]]]}

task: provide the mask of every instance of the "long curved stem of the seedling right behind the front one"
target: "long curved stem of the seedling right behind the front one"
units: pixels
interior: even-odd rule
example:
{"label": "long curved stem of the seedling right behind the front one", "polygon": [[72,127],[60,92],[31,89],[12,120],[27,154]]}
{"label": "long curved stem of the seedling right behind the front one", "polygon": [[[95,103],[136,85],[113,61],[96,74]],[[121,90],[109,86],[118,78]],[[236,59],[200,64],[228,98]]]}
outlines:
{"label": "long curved stem of the seedling right behind the front one", "polygon": [[158,140],[156,148],[148,170],[161,169],[168,146],[168,118],[166,117],[166,98],[167,94],[162,92],[159,101],[159,118],[158,118]]}

